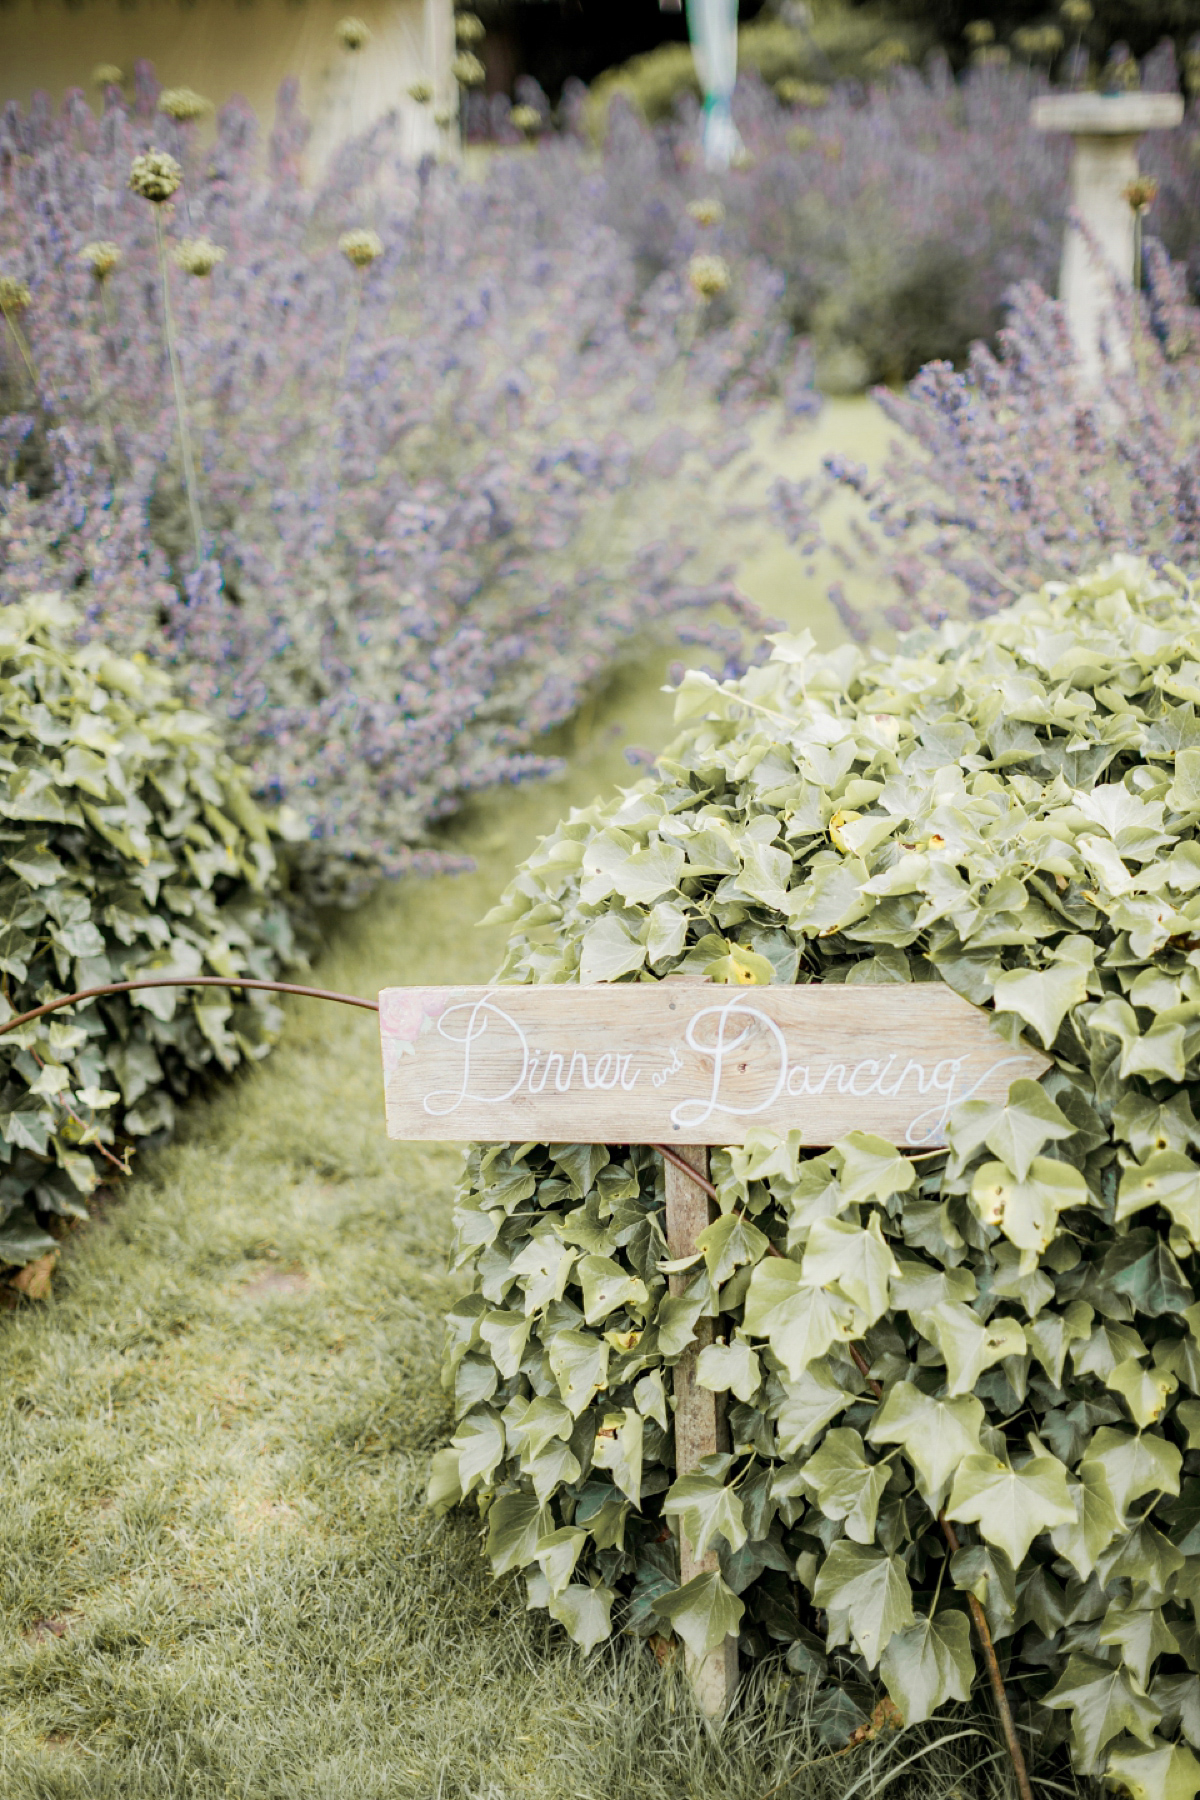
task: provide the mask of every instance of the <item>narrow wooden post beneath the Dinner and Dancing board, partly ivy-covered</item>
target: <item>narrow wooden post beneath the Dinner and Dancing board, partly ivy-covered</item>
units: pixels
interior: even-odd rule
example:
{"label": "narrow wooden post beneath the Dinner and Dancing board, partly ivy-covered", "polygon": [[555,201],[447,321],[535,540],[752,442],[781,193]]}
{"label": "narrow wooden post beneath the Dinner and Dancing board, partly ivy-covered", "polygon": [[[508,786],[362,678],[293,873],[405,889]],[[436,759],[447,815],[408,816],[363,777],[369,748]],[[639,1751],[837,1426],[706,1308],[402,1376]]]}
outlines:
{"label": "narrow wooden post beneath the Dinner and Dancing board, partly ivy-covered", "polygon": [[[671,1145],[671,1148],[698,1175],[709,1174],[709,1152],[702,1147]],[[696,1238],[714,1217],[709,1195],[694,1181],[664,1163],[667,1179],[667,1247],[671,1256],[691,1256]],[[687,1274],[669,1276],[671,1292],[682,1294],[687,1287]],[[696,1319],[694,1343],[675,1364],[675,1472],[687,1474],[702,1456],[729,1447],[729,1429],[725,1426],[725,1408],[718,1393],[696,1384],[696,1361],[705,1345],[712,1343],[716,1332],[714,1319]],[[707,1575],[718,1566],[716,1550],[703,1557],[694,1557],[684,1532],[680,1532],[680,1584],[693,1575]],[[721,1719],[738,1690],[738,1638],[730,1634],[707,1656],[687,1656],[687,1679],[696,1699],[711,1719]]]}

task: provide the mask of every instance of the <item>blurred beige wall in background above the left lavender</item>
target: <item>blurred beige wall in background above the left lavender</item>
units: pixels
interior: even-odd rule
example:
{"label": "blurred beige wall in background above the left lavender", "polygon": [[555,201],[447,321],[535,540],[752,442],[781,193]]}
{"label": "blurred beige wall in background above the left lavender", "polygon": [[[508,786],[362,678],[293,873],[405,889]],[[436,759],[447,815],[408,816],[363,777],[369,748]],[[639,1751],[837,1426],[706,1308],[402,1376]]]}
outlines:
{"label": "blurred beige wall in background above the left lavender", "polygon": [[[372,31],[365,49],[347,54],[333,34],[353,13]],[[313,119],[317,166],[342,137],[399,106],[405,149],[437,148],[432,108],[417,106],[407,86],[435,81],[439,99],[453,99],[452,0],[14,0],[0,9],[0,99],[23,106],[34,88],[61,99],[81,86],[92,99],[92,68],[117,63],[130,72],[148,58],[166,86],[189,86],[223,104],[245,95],[270,122],[275,90],[300,77]]]}

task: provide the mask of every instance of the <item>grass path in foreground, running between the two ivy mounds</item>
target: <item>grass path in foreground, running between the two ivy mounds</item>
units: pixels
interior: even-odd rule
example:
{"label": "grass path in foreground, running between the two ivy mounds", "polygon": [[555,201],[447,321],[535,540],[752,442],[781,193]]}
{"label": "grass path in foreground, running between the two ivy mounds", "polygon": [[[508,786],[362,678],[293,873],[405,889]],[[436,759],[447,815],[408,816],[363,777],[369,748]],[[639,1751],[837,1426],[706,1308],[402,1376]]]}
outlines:
{"label": "grass path in foreground, running between the two ivy mounds", "polygon": [[[381,895],[320,979],[486,979],[500,934],[473,920],[567,805],[628,779],[621,716],[664,736],[653,686],[608,695],[563,783],[464,814],[477,873]],[[470,1510],[426,1514],[457,1163],[383,1138],[371,1015],[295,1003],[54,1298],[0,1318],[4,1800],[1004,1793],[986,1724],[831,1757],[777,1670],[718,1741],[644,1647],[585,1661],[527,1615]]]}

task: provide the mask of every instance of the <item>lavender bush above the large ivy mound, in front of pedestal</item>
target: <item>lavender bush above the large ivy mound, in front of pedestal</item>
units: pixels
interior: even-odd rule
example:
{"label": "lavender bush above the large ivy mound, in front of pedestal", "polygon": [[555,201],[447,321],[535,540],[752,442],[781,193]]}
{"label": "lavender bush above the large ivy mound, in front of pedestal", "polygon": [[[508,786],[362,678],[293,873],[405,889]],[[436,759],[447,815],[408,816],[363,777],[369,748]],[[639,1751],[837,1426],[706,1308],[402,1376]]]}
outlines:
{"label": "lavender bush above the large ivy mound, in front of pedestal", "polygon": [[[1200,313],[1155,239],[1146,277],[1123,304],[1130,356],[1110,356],[1099,382],[1063,310],[1027,283],[995,355],[975,344],[963,371],[934,362],[905,394],[878,391],[903,432],[887,466],[831,459],[828,475],[867,502],[855,560],[864,590],[898,596],[889,623],[991,612],[1112,551],[1200,567]],[[828,491],[775,486],[801,549],[820,542]],[[869,617],[847,616],[865,637]]]}

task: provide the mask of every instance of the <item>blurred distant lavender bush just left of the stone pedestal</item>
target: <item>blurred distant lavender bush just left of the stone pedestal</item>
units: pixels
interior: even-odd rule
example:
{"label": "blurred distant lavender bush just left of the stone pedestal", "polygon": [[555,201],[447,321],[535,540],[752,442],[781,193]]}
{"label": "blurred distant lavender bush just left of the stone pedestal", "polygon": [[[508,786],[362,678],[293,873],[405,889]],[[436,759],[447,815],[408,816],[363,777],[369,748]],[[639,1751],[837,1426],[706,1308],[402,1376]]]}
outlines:
{"label": "blurred distant lavender bush just left of the stone pedestal", "polygon": [[[736,95],[747,158],[720,180],[694,160],[691,106],[651,131],[615,101],[606,218],[648,281],[703,236],[734,261],[770,261],[826,385],[901,380],[991,337],[1015,281],[1054,275],[1069,144],[1029,124],[1043,90],[1018,67],[955,81],[936,58],[923,74],[801,88],[788,104],[750,77]],[[714,229],[687,212],[709,193],[725,209]]]}

